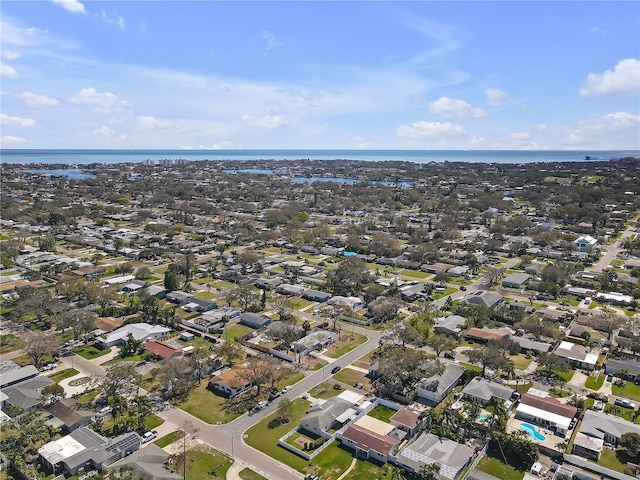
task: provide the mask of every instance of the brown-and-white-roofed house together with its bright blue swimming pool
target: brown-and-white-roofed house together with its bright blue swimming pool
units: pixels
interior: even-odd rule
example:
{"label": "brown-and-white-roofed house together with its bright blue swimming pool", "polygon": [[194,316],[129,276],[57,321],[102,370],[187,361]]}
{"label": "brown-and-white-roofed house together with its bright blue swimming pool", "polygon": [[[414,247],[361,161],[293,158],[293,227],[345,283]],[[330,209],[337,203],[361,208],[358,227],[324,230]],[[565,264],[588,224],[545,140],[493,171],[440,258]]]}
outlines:
{"label": "brown-and-white-roofed house together with its bright blue swimming pool", "polygon": [[541,437],[549,435],[564,438],[573,428],[577,413],[576,407],[565,405],[553,397],[525,393],[516,407],[515,419],[521,421],[518,428],[529,433],[532,440],[542,441]]}

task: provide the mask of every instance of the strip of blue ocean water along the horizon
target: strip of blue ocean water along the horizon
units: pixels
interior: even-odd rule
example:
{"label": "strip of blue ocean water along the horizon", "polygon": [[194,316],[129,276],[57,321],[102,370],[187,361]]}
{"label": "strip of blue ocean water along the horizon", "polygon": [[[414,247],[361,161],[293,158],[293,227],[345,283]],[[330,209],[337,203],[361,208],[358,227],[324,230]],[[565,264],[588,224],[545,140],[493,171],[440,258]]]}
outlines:
{"label": "strip of blue ocean water along the horizon", "polygon": [[22,164],[113,164],[161,159],[193,160],[363,160],[534,163],[640,157],[640,151],[607,150],[27,150],[2,149],[0,162]]}

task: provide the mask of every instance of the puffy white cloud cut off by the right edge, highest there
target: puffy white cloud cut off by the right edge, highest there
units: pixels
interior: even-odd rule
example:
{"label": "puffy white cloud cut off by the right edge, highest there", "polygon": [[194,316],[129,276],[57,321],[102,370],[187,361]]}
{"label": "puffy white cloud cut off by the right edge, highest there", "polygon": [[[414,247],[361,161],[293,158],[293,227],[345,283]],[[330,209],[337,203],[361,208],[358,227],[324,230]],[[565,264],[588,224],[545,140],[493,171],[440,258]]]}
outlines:
{"label": "puffy white cloud cut off by the right edge, highest there", "polygon": [[625,58],[620,60],[613,71],[603,74],[590,73],[587,83],[580,89],[582,97],[591,95],[637,95],[640,93],[640,60]]}

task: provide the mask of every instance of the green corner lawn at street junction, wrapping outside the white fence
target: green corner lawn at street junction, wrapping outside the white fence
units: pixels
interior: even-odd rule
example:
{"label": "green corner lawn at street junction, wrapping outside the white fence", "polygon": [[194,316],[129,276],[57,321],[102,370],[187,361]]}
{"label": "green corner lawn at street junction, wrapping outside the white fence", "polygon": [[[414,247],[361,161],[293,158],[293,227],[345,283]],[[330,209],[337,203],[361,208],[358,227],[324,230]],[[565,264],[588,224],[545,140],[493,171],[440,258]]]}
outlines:
{"label": "green corner lawn at street junction, wrapping outside the white fence", "polygon": [[268,417],[264,418],[246,432],[245,442],[247,445],[260,450],[262,453],[282,462],[290,467],[304,472],[308,466],[308,462],[302,457],[298,457],[294,453],[285,450],[278,445],[278,439],[293,429],[300,423],[305,412],[309,408],[309,402],[301,398],[297,398],[293,401],[293,413],[289,417],[289,422],[284,425],[280,425],[276,428],[269,428],[269,421],[271,421],[277,414],[272,413]]}

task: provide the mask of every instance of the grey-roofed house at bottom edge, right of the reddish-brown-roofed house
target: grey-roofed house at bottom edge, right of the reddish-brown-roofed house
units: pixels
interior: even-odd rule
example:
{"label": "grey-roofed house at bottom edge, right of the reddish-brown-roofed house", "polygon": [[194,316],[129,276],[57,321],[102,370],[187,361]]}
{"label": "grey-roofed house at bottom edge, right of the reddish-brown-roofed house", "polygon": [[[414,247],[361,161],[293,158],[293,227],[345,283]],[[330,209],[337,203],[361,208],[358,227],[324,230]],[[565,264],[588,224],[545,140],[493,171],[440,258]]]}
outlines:
{"label": "grey-roofed house at bottom edge, right of the reddish-brown-roofed house", "polygon": [[397,455],[397,463],[411,473],[418,473],[423,465],[440,465],[440,478],[456,480],[473,457],[467,445],[423,433]]}

